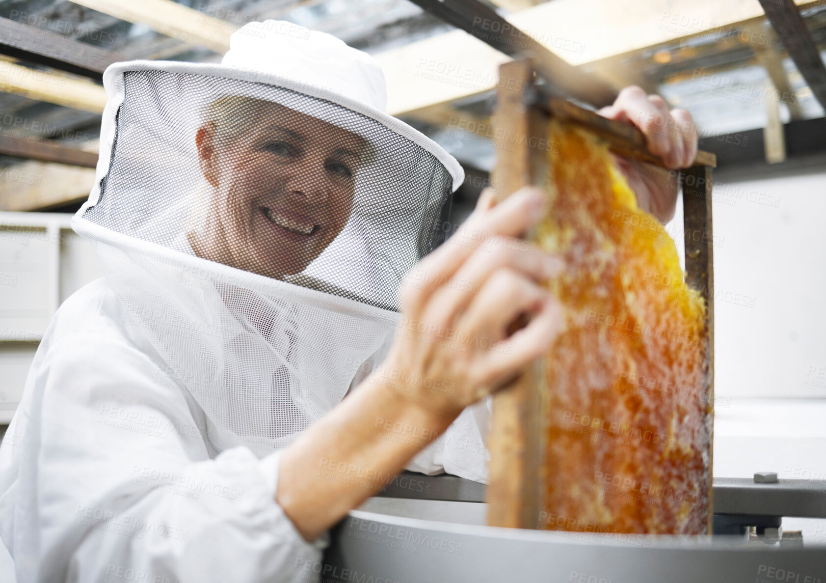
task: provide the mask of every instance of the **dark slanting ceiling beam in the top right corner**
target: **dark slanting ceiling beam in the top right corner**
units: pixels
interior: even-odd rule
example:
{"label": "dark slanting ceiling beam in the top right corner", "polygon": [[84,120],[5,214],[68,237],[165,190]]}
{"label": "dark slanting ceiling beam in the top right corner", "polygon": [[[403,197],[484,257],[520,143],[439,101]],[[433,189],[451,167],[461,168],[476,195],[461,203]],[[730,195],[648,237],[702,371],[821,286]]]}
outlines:
{"label": "dark slanting ceiling beam in the top right corner", "polygon": [[800,16],[800,9],[791,0],[760,0],[760,5],[820,107],[826,111],[826,67]]}

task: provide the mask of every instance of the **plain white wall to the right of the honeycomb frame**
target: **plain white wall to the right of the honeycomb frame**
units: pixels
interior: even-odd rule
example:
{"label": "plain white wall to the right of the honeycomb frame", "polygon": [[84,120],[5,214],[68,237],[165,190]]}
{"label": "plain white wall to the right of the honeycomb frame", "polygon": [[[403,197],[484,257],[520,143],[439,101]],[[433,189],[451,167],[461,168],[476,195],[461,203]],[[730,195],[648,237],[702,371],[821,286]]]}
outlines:
{"label": "plain white wall to the right of the honeycomb frame", "polygon": [[826,397],[826,170],[717,181],[714,294],[716,394]]}

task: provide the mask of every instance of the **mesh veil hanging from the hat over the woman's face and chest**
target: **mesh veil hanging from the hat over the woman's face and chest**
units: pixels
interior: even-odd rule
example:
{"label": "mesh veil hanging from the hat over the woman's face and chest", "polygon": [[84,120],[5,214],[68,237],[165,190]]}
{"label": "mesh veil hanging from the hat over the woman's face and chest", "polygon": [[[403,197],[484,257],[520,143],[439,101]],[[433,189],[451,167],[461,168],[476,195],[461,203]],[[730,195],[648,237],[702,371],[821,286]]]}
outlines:
{"label": "mesh veil hanging from the hat over the woman's face and chest", "polygon": [[212,445],[266,455],[387,346],[453,177],[409,136],[305,93],[169,70],[121,79],[109,167],[75,229]]}

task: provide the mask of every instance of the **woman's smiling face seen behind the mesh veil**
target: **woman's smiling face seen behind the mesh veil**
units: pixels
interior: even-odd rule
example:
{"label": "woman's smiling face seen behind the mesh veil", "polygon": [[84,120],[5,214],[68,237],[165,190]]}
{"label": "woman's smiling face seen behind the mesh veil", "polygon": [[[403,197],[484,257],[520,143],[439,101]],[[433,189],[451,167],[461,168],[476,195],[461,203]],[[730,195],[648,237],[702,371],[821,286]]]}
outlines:
{"label": "woman's smiling face seen behind the mesh veil", "polygon": [[277,103],[250,100],[249,129],[197,131],[201,167],[214,188],[198,256],[268,277],[296,274],[344,228],[367,142]]}

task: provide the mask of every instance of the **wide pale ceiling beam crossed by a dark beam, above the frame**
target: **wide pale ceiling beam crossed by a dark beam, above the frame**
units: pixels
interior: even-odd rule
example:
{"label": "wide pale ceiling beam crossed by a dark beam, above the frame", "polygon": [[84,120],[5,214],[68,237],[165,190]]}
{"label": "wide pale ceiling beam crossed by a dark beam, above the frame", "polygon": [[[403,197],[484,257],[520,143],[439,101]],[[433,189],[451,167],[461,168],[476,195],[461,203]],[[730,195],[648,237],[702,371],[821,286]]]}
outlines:
{"label": "wide pale ceiling beam crossed by a dark beam, above the frame", "polygon": [[[819,3],[796,1],[801,7]],[[510,14],[507,20],[571,65],[586,65],[711,31],[752,26],[764,18],[753,0],[553,0]],[[491,22],[478,26],[502,36],[501,30],[491,30]],[[524,41],[518,35],[506,36],[515,44]],[[392,115],[488,91],[499,79],[498,66],[510,60],[464,31],[373,56],[387,79],[387,109]]]}

